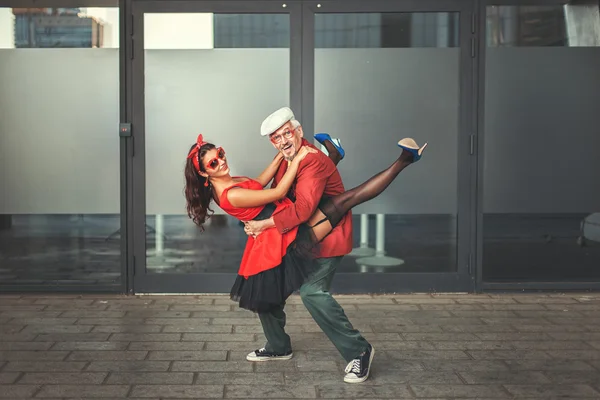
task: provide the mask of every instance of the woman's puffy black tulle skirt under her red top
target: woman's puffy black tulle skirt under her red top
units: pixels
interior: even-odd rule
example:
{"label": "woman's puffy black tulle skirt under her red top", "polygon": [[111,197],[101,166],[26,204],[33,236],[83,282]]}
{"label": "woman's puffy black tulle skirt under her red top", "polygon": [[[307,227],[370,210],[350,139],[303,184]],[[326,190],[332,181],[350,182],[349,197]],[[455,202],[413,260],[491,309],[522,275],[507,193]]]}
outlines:
{"label": "woman's puffy black tulle skirt under her red top", "polygon": [[[275,206],[267,206],[254,220],[271,217]],[[269,312],[285,303],[300,289],[314,271],[315,252],[311,230],[306,224],[298,226],[296,239],[290,243],[278,266],[252,275],[238,275],[231,288],[230,298],[241,308],[257,313]]]}

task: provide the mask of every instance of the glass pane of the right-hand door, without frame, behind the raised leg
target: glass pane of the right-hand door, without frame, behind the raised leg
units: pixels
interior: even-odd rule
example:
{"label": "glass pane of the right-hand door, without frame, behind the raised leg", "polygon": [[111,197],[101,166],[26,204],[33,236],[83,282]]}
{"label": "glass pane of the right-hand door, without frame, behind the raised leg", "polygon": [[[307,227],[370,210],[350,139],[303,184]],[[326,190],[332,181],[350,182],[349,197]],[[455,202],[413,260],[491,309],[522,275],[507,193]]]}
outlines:
{"label": "glass pane of the right-hand door, without frame, behind the raised leg", "polygon": [[355,250],[343,272],[456,271],[458,20],[458,13],[315,15],[315,132],[341,139],[345,187],[387,167],[402,137],[436,143],[353,210]]}

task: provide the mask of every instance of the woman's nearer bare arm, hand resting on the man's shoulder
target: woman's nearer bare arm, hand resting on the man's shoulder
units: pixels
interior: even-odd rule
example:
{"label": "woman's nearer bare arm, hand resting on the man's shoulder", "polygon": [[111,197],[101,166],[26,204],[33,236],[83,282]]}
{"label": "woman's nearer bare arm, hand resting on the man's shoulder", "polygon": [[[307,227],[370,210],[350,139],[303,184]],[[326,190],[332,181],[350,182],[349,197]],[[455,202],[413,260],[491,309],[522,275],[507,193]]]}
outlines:
{"label": "woman's nearer bare arm, hand resting on the man's shoulder", "polygon": [[227,200],[229,200],[229,203],[234,207],[259,207],[283,199],[288,190],[292,187],[294,179],[296,179],[300,161],[302,161],[308,153],[316,152],[317,150],[315,149],[311,149],[308,146],[302,146],[275,188],[264,190],[232,188],[227,192]]}

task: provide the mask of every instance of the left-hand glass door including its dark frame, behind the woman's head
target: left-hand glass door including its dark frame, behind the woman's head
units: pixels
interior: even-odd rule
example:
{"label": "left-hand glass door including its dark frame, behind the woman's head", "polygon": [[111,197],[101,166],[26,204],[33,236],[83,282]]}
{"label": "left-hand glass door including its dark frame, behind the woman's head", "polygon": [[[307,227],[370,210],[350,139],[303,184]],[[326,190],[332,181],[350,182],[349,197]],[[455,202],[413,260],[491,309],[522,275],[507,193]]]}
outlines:
{"label": "left-hand glass door including its dark frame, behind the woman's head", "polygon": [[226,150],[234,175],[258,176],[270,162],[262,120],[300,104],[299,10],[274,2],[133,3],[136,292],[229,292],[247,236],[214,202],[204,230],[188,217],[186,156],[202,133]]}

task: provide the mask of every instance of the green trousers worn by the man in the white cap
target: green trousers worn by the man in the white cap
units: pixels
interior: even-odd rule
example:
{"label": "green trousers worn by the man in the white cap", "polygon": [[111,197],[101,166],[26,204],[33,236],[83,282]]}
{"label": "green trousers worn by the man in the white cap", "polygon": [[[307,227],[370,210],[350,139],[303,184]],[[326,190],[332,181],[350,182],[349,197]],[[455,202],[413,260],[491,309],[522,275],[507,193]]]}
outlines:
{"label": "green trousers worn by the man in the white cap", "polygon": [[[317,267],[307,282],[300,287],[300,297],[315,322],[338,349],[346,362],[365,351],[369,344],[352,327],[344,309],[331,296],[329,288],[342,257],[319,258]],[[285,304],[268,313],[259,313],[268,351],[285,353],[292,350],[290,337],[285,333]]]}

